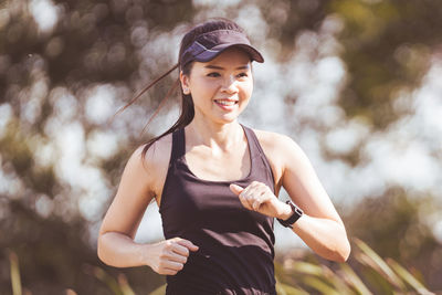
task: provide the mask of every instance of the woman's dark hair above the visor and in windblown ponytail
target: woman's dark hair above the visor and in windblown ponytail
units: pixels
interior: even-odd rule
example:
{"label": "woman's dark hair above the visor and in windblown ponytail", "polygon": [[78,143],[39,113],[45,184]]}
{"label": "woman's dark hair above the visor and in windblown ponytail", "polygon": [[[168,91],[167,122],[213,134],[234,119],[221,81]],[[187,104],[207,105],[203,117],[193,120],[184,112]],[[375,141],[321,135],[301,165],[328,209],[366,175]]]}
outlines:
{"label": "woman's dark hair above the visor and in windblown ponytail", "polygon": [[[140,96],[144,92],[146,92],[148,88],[150,88],[152,85],[155,85],[159,80],[161,80],[162,77],[168,75],[170,72],[172,72],[177,67],[180,71],[182,71],[182,74],[189,75],[193,63],[192,62],[188,63],[188,64],[186,64],[186,65],[183,65],[181,67],[182,53],[193,43],[193,41],[199,35],[208,33],[208,32],[217,31],[217,30],[232,30],[232,31],[238,31],[238,32],[244,33],[244,30],[240,25],[238,25],[235,22],[230,21],[228,19],[222,19],[222,18],[213,19],[213,20],[207,21],[204,23],[201,23],[201,24],[199,24],[197,27],[193,27],[189,32],[187,32],[185,34],[185,36],[181,40],[180,51],[179,51],[179,55],[178,55],[178,64],[175,65],[167,73],[161,75],[159,78],[154,81],[150,85],[148,85],[138,96]],[[178,85],[179,85],[179,80],[170,88],[170,91],[166,95],[165,99],[168,98],[168,96],[171,94],[171,92],[173,92],[176,89],[176,87]],[[129,104],[131,104],[133,102],[134,102],[134,99],[131,102],[129,102]],[[162,102],[161,102],[161,104],[162,104]],[[159,135],[157,137],[151,138],[149,141],[146,143],[146,145],[145,145],[145,147],[143,149],[143,152],[141,152],[143,159],[146,157],[147,150],[157,140],[159,140],[160,138],[165,137],[168,134],[173,133],[177,129],[186,127],[193,119],[193,116],[194,116],[194,107],[193,107],[192,96],[191,96],[191,94],[186,95],[181,89],[181,112],[180,112],[180,116],[178,117],[177,122],[167,131],[165,131],[164,134],[161,134],[161,135]]]}

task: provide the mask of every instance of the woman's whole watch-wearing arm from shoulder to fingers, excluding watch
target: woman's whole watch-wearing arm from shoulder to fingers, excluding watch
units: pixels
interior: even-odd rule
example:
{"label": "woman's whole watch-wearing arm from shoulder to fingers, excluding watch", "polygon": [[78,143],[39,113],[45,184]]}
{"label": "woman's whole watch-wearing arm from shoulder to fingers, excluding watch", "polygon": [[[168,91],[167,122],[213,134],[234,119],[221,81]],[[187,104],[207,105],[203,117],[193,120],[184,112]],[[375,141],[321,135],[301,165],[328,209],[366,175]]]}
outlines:
{"label": "woman's whole watch-wearing arm from shoulder to fingers, excluding watch", "polygon": [[[291,199],[304,211],[293,231],[318,255],[345,262],[350,244],[344,223],[308,158],[286,136],[273,133],[257,133],[257,136],[271,161],[276,190],[282,183]],[[231,185],[231,190],[249,210],[282,220],[292,213],[291,207],[278,200],[264,183],[253,182],[246,188]]]}

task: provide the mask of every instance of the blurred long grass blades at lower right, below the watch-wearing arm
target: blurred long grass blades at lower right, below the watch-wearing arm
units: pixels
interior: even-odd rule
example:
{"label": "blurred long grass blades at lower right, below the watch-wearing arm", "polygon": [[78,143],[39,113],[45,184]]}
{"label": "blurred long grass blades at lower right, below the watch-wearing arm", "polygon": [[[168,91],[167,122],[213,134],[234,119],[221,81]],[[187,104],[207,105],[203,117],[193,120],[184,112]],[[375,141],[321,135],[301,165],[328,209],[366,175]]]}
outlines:
{"label": "blurred long grass blades at lower right, below the watch-wearing arm", "polygon": [[332,270],[318,262],[285,261],[286,267],[276,267],[278,288],[285,294],[432,294],[396,261],[381,259],[358,239],[355,245],[354,266]]}

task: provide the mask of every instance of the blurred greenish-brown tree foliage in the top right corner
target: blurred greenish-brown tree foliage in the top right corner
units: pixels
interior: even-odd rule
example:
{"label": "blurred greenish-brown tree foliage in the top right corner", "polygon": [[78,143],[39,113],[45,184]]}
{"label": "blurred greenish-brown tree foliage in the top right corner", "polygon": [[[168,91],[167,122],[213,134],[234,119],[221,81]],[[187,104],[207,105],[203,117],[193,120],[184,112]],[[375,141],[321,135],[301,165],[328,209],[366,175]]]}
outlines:
{"label": "blurred greenish-brown tree foliage in the top right corner", "polygon": [[349,116],[364,116],[385,128],[401,114],[393,108],[400,91],[420,84],[431,48],[442,41],[438,0],[329,2],[345,22],[340,40],[350,74],[340,103]]}

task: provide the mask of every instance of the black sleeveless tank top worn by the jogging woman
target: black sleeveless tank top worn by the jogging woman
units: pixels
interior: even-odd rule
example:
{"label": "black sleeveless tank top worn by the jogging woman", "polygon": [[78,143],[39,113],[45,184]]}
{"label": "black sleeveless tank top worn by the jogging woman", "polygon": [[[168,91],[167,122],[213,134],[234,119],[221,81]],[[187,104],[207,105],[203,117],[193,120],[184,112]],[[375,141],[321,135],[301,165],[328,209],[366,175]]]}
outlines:
{"label": "black sleeveless tank top worn by the jogging woman", "polygon": [[196,177],[186,164],[185,129],[172,134],[172,151],[159,212],[166,239],[199,246],[183,268],[167,276],[166,294],[276,294],[273,218],[250,211],[230,191],[252,181],[274,192],[272,169],[252,129],[242,126],[251,157],[249,175],[236,181]]}

